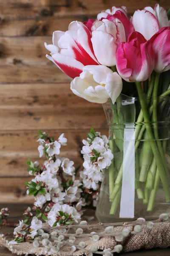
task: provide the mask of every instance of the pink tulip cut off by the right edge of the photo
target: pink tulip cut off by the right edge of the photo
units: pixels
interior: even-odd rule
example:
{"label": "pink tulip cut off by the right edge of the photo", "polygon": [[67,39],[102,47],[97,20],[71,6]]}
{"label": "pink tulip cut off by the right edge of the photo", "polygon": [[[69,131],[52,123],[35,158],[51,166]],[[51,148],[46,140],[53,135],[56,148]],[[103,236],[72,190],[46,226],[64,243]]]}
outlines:
{"label": "pink tulip cut off by the right edge of the photo", "polygon": [[170,27],[161,28],[150,42],[155,53],[154,70],[158,73],[170,70]]}

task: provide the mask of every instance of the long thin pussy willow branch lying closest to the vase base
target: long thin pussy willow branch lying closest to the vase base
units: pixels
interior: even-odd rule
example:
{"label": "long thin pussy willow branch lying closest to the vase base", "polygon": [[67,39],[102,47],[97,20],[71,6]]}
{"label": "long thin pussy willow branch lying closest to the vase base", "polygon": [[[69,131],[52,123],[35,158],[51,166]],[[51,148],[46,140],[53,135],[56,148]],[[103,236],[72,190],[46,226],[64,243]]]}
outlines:
{"label": "long thin pussy willow branch lying closest to the vase base", "polygon": [[[141,225],[145,225],[147,224],[148,222],[150,221],[130,221],[130,222],[117,222],[117,223],[97,223],[97,224],[92,224],[92,225],[67,225],[67,226],[58,226],[58,227],[48,227],[48,228],[45,228],[43,230],[60,230],[60,229],[63,229],[63,228],[78,228],[78,227],[81,227],[81,228],[87,228],[87,229],[90,229],[91,227],[108,227],[108,226],[128,226],[130,224],[141,224]],[[152,221],[153,223],[158,223],[158,222],[161,222],[160,219],[157,219],[155,221]],[[170,222],[170,221],[164,221],[164,222]]]}

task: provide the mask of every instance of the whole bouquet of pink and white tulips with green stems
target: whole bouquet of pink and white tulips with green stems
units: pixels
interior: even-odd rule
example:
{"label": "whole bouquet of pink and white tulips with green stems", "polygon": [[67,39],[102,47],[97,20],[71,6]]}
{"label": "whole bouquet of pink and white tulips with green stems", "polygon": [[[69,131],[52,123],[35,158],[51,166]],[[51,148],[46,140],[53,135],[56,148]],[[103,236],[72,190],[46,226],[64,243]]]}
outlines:
{"label": "whole bouquet of pink and white tulips with green stems", "polygon": [[[53,44],[45,43],[51,52],[51,56],[46,57],[74,79],[71,81],[74,94],[89,102],[111,102],[113,123],[125,122],[118,111],[121,97],[138,97],[141,110],[139,113],[134,111],[133,129],[135,157],[142,155],[142,167],[137,175],[135,170],[134,182],[138,179],[138,185],[135,184],[138,196],[144,204],[148,203],[148,211],[153,209],[160,180],[166,201],[170,201],[165,159],[167,140],[161,142],[158,132],[158,105],[161,103],[163,109],[167,102],[165,97],[170,94],[169,17],[170,10],[167,12],[159,4],[154,9],[147,6],[136,10],[133,17],[128,17],[125,6],[113,6],[99,13],[96,20],[71,22],[68,31],[53,33]],[[123,151],[116,136],[113,128],[114,144]],[[142,136],[146,141],[139,151]],[[112,145],[110,148],[112,150]],[[93,157],[91,161],[94,161]],[[109,198],[113,202],[111,214],[115,213],[120,201],[123,163],[115,173],[114,178],[110,175],[109,181]]]}

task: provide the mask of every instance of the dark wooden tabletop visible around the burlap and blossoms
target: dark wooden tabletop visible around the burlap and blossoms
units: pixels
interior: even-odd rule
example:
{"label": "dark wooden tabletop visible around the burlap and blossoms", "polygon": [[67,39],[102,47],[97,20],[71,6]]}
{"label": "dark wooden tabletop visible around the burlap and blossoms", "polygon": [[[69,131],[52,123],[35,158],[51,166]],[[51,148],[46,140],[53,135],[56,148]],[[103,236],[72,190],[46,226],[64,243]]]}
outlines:
{"label": "dark wooden tabletop visible around the burlap and blossoms", "polygon": [[[30,205],[28,204],[0,204],[0,209],[3,207],[8,207],[10,209],[10,216],[21,216],[24,210]],[[21,218],[20,218],[21,219]],[[9,224],[18,223],[19,218],[10,219]],[[2,227],[0,233],[8,235],[12,233],[14,227]],[[8,236],[9,238],[9,236]],[[17,254],[12,254],[5,247],[0,247],[0,256],[17,256]],[[97,254],[96,254],[97,256]],[[138,250],[131,253],[120,253],[119,256],[170,256],[170,248],[167,249],[154,249],[154,250]]]}

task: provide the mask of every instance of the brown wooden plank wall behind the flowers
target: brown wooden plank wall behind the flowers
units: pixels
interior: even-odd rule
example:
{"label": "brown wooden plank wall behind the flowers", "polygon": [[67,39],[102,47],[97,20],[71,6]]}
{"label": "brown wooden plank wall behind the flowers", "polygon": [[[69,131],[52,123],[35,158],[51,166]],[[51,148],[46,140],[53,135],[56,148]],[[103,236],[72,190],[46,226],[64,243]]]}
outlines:
{"label": "brown wooden plank wall behind the flowers", "polygon": [[30,201],[24,181],[28,157],[37,160],[37,129],[68,138],[62,156],[82,165],[81,140],[93,126],[108,133],[102,105],[86,102],[70,90],[71,79],[48,59],[44,42],[72,20],[95,19],[125,5],[129,14],[169,0],[0,0],[0,203]]}

